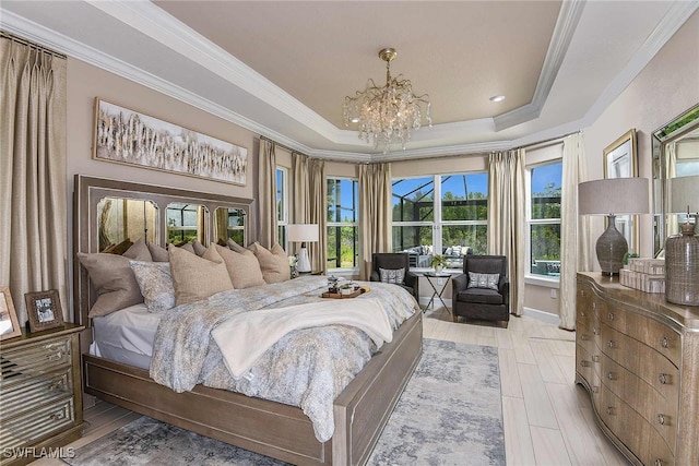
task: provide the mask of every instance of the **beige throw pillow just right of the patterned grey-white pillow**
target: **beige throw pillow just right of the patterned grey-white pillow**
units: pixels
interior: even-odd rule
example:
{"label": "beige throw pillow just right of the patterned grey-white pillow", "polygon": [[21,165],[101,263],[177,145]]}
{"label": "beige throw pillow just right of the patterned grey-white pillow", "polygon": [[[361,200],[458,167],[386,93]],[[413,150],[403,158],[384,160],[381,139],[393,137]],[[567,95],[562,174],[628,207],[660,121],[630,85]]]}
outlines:
{"label": "beige throw pillow just right of the patterned grey-white pillow", "polygon": [[177,306],[233,289],[226,264],[213,246],[201,258],[171,244],[167,251]]}

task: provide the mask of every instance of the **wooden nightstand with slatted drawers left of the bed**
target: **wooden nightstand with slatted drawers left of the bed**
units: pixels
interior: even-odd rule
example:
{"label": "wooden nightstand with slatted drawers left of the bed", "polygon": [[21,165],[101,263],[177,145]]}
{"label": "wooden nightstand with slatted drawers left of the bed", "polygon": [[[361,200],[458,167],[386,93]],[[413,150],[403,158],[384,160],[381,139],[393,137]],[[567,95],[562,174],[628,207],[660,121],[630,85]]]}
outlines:
{"label": "wooden nightstand with slatted drawers left of the bed", "polygon": [[82,381],[78,335],[64,324],[0,344],[0,465],[21,465],[82,434]]}

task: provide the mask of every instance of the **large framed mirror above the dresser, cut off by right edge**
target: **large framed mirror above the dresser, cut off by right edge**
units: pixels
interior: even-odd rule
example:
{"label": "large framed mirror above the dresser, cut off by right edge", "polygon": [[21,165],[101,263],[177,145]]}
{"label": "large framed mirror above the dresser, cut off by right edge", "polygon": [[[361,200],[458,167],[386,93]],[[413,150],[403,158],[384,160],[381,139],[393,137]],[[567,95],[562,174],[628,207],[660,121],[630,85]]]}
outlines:
{"label": "large framed mirror above the dresser, cut off by right edge", "polygon": [[653,253],[662,255],[665,238],[679,232],[683,220],[668,215],[667,180],[699,175],[699,104],[651,135],[653,171]]}

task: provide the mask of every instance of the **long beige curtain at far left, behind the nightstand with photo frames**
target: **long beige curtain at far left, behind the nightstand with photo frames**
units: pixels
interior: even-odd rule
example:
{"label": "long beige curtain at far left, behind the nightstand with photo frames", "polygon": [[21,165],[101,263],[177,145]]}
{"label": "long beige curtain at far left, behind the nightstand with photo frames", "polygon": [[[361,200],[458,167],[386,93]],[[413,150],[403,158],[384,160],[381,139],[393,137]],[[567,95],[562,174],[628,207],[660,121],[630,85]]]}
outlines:
{"label": "long beige curtain at far left, behind the nightstand with photo frames", "polygon": [[20,324],[24,294],[67,288],[66,59],[2,38],[0,46],[0,286]]}

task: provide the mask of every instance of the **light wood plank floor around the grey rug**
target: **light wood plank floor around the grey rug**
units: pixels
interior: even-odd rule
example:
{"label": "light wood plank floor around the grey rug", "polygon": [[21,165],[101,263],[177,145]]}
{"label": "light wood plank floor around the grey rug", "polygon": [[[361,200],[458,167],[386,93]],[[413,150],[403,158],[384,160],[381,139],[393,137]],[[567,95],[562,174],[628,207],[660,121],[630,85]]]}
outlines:
{"label": "light wood plank floor around the grey rug", "polygon": [[[573,384],[574,333],[526,315],[510,319],[508,328],[476,321],[455,324],[445,308],[427,310],[424,322],[426,338],[498,348],[509,466],[628,465],[594,423],[587,392]],[[98,402],[84,417],[90,427],[70,446],[93,442],[140,415]],[[58,459],[34,464],[64,465]]]}

